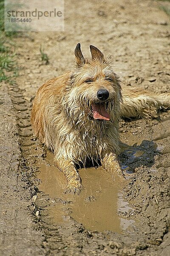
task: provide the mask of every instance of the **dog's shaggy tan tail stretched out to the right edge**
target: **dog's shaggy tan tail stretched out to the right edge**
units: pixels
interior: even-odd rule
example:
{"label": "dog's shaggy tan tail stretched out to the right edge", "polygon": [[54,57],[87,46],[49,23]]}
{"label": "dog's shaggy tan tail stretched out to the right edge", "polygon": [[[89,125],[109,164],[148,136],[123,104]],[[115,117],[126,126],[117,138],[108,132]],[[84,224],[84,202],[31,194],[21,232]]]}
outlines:
{"label": "dog's shaggy tan tail stretched out to the right edge", "polygon": [[170,109],[170,93],[151,94],[143,90],[128,90],[123,93],[122,118],[156,118],[158,111]]}

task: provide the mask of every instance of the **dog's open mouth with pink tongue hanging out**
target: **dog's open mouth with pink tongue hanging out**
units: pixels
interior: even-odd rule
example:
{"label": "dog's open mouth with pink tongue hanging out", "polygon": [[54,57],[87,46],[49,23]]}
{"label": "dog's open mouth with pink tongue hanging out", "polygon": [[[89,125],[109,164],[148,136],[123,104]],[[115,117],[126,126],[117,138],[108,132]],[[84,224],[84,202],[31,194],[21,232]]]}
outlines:
{"label": "dog's open mouth with pink tongue hanging out", "polygon": [[94,119],[110,120],[104,104],[92,104]]}

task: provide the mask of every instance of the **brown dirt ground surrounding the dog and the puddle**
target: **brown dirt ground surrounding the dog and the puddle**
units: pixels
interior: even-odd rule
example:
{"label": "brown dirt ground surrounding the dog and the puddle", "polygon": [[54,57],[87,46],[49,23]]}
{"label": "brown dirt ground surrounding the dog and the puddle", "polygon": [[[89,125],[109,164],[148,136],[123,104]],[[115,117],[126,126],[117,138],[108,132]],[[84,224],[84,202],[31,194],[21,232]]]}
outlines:
{"label": "brown dirt ground surrounding the dog and the puddle", "polygon": [[[78,42],[87,57],[90,44],[105,56],[110,54],[124,86],[170,92],[170,20],[159,9],[161,1],[65,2],[65,32],[16,38],[22,70],[8,93],[2,85],[0,101],[6,104],[0,105],[0,255],[168,256],[170,111],[154,120],[120,123],[124,143],[120,161],[130,177],[123,195],[130,209],[119,210],[118,216],[133,223],[122,232],[86,229],[70,217],[71,200],[48,192],[48,187],[43,190],[44,180],[42,184],[38,180],[37,166],[50,169],[54,163],[32,135],[32,100],[43,82],[72,69]],[[48,65],[41,63],[40,46],[49,56]],[[53,180],[49,187],[54,191]],[[67,208],[66,221],[57,224],[50,211],[61,206]]]}

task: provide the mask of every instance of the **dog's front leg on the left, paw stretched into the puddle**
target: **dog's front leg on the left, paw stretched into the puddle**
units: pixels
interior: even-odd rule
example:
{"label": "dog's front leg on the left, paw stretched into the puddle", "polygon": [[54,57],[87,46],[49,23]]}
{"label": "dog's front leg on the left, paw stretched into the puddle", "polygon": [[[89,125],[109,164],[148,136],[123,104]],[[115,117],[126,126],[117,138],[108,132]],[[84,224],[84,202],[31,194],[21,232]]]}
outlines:
{"label": "dog's front leg on the left, paw stretched into the puddle", "polygon": [[68,182],[68,186],[66,187],[64,193],[72,192],[79,194],[79,192],[82,190],[82,184],[79,174],[74,167],[74,163],[70,160],[66,160],[65,158],[61,158],[57,160],[57,167],[65,174]]}

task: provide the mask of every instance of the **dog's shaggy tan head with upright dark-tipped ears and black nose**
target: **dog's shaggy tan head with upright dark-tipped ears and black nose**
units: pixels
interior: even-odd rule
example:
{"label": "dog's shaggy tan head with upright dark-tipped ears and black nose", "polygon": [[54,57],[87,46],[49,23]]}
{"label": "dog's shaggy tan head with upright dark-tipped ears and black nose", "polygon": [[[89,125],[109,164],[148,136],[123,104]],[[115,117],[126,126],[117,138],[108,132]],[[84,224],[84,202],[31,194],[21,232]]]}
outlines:
{"label": "dog's shaggy tan head with upright dark-tipped ears and black nose", "polygon": [[69,97],[74,97],[74,104],[89,119],[112,120],[119,115],[122,100],[119,77],[99,49],[90,45],[90,50],[92,59],[88,61],[77,44],[76,69],[71,75]]}

